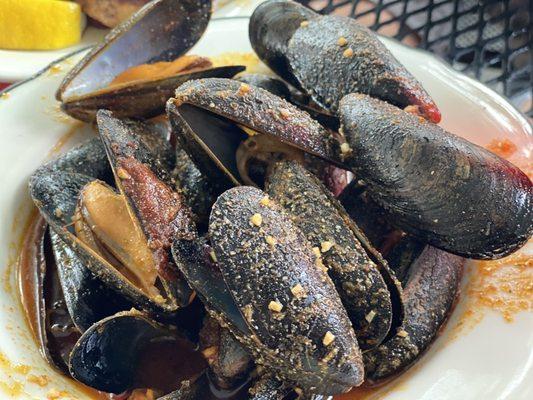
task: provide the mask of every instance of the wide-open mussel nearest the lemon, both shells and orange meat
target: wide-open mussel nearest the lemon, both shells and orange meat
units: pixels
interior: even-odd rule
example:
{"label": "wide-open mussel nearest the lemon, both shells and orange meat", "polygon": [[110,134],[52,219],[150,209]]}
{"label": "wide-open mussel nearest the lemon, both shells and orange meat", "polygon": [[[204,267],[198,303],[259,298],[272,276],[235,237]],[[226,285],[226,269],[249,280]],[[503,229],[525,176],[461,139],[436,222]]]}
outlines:
{"label": "wide-open mussel nearest the lemon, both shells and orange meat", "polygon": [[[62,109],[83,121],[94,120],[99,109],[117,116],[154,117],[164,112],[181,83],[230,78],[242,71],[239,66],[213,68],[205,57],[183,56],[200,39],[210,16],[211,0],[150,2],[68,73],[56,93]],[[149,65],[139,74],[144,64]]]}

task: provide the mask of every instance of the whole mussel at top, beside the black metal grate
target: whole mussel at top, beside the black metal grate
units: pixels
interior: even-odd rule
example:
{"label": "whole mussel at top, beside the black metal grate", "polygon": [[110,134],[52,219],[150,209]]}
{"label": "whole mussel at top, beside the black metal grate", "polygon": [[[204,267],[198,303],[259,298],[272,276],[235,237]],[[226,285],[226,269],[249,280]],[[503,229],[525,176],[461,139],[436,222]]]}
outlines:
{"label": "whole mussel at top, beside the black metal grate", "polygon": [[419,106],[428,119],[440,121],[420,83],[352,18],[271,0],[254,11],[249,34],[259,58],[326,110],[336,112],[345,95],[359,92],[399,107]]}

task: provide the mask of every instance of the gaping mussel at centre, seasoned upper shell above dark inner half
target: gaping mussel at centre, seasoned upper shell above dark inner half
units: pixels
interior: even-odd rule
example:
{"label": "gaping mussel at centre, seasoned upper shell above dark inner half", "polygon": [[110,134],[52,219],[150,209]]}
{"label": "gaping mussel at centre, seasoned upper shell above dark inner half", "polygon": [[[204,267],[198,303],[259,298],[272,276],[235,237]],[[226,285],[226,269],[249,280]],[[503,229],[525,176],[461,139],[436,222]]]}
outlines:
{"label": "gaping mussel at centre, seasoned upper shell above dark inner half", "polygon": [[168,101],[167,112],[185,150],[220,191],[239,184],[235,154],[248,137],[239,126],[336,159],[330,133],[309,114],[246,83],[217,78],[186,82]]}

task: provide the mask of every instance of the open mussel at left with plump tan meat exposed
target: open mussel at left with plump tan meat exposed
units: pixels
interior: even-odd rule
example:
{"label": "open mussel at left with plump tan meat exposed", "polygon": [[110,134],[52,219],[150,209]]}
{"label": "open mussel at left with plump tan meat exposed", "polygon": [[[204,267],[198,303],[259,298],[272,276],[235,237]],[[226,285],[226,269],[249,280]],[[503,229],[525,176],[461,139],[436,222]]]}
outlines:
{"label": "open mussel at left with plump tan meat exposed", "polygon": [[[76,157],[68,153],[31,177],[31,195],[52,229],[69,247],[68,251],[74,252],[76,262],[83,266],[78,272],[66,270],[64,276],[71,280],[71,289],[85,293],[86,285],[92,285],[95,290],[91,293],[96,296],[99,291],[94,283],[99,282],[100,287],[114,293],[122,303],[127,300],[128,308],[149,310],[161,317],[171,315],[178,306],[190,302],[191,292],[168,259],[168,235],[173,240],[178,230],[184,235],[194,234],[194,229],[187,225],[192,224],[192,220],[189,221],[188,208],[182,198],[159,179],[169,174],[165,165],[173,152],[165,150],[158,139],[159,133],[147,124],[128,120],[121,121],[119,127],[113,124],[116,125],[116,120],[111,115],[102,116],[100,129],[106,138],[106,151],[120,193],[94,176],[71,172],[78,164],[83,164],[80,160],[86,154],[76,149],[73,151]],[[117,128],[114,134],[110,133],[110,128]],[[148,140],[147,137],[152,138]],[[154,154],[150,146],[157,143],[158,153]],[[124,149],[130,153],[120,153]],[[117,167],[116,162],[123,161],[120,155],[126,155],[124,159],[129,164]],[[62,161],[65,157],[70,160],[67,163],[70,168]],[[102,164],[109,169],[109,162]],[[135,185],[124,185],[127,171]],[[156,214],[155,218],[147,214],[154,198],[143,198],[146,190],[158,190],[158,194],[167,196],[166,201],[157,203],[157,210],[163,214]],[[171,224],[172,221],[177,222]],[[160,228],[161,224],[165,226]],[[65,264],[65,268],[69,267]],[[112,311],[110,307],[109,312]],[[89,318],[81,326],[86,328],[94,322]]]}

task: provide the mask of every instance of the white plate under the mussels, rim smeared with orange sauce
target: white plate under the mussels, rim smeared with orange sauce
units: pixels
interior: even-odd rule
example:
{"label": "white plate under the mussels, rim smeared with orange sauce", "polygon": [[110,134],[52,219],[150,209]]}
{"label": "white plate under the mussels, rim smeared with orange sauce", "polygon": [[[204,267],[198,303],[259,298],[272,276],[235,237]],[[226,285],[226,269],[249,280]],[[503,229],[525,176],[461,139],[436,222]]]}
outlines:
{"label": "white plate under the mussels, rim smeared with orange sauce", "polygon": [[[250,51],[246,18],[211,22],[193,50],[216,55],[227,51]],[[520,146],[519,158],[531,160],[532,130],[528,121],[503,98],[481,84],[460,75],[433,56],[393,41],[387,46],[422,82],[444,115],[442,125],[479,144],[494,138],[509,138]],[[0,98],[0,398],[46,398],[51,389],[66,390],[77,399],[87,399],[68,379],[56,374],[41,359],[24,322],[17,297],[13,261],[18,238],[30,209],[27,179],[50,149],[64,135],[75,132],[68,145],[91,134],[91,129],[63,117],[53,94],[65,70],[79,59],[61,63],[60,72],[44,71],[13,87]],[[68,146],[67,146],[68,147]],[[415,367],[401,379],[389,399],[492,400],[532,399],[533,313],[518,314],[513,323],[487,311],[473,329],[455,340],[449,338],[464,301],[443,335]],[[5,357],[4,357],[5,356]],[[5,361],[9,360],[9,361]],[[15,368],[30,366],[31,371]],[[27,383],[27,374],[50,377],[40,387]]]}

